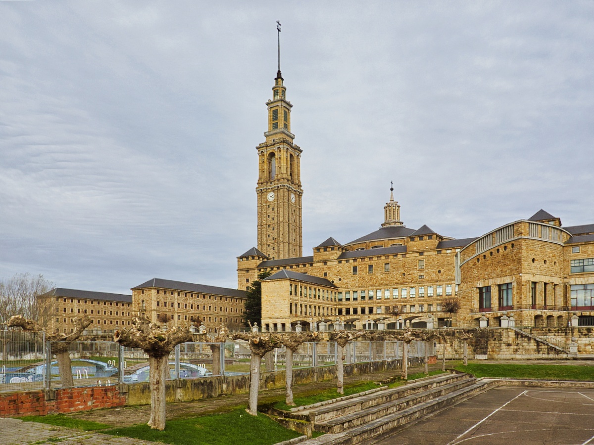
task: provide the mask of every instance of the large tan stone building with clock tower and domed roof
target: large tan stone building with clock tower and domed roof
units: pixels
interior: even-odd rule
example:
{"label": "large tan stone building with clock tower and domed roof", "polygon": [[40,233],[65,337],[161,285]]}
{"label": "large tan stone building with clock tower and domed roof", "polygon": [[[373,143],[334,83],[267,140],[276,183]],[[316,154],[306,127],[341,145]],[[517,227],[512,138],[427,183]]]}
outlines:
{"label": "large tan stone building with clock tower and domed roof", "polygon": [[[567,325],[576,311],[593,314],[594,224],[563,228],[543,210],[478,238],[453,239],[428,225],[407,228],[390,188],[378,230],[344,244],[330,237],[302,256],[302,150],[289,132],[280,71],[267,106],[266,142],[257,147],[258,247],[238,257],[241,290],[273,272],[262,282],[264,329],[317,329],[337,317],[368,329],[479,326],[481,319],[551,326]],[[445,300],[459,302],[457,313],[445,312]]]}

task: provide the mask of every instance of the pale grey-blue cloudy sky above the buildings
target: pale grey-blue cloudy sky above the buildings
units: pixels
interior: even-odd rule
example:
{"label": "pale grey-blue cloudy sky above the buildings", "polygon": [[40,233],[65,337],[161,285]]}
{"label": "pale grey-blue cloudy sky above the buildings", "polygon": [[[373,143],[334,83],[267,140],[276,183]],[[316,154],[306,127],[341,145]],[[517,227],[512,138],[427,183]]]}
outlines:
{"label": "pale grey-blue cloudy sky above the buildings", "polygon": [[236,287],[276,20],[304,255],[594,222],[592,1],[0,1],[0,279]]}

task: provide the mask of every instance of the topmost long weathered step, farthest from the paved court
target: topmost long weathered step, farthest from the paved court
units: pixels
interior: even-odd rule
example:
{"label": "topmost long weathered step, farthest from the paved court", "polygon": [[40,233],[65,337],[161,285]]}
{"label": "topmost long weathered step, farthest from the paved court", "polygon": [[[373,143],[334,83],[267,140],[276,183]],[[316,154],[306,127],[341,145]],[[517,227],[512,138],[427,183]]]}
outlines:
{"label": "topmost long weathered step, farthest from the paved court", "polygon": [[366,393],[365,395],[349,399],[338,399],[334,402],[328,401],[323,406],[304,406],[300,409],[293,409],[286,417],[299,419],[303,421],[312,422],[314,424],[328,421],[336,417],[360,412],[363,409],[371,408],[372,406],[382,405],[383,403],[391,402],[416,392],[422,392],[431,388],[459,382],[467,379],[466,374],[440,374],[435,377],[418,380],[417,382],[405,384],[391,389],[383,389],[381,391]]}

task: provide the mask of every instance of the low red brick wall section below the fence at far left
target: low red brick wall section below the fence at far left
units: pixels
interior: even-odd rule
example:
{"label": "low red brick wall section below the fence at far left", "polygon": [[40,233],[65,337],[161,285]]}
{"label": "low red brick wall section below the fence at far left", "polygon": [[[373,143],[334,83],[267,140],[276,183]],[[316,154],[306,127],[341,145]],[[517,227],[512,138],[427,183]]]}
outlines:
{"label": "low red brick wall section below the fence at far left", "polygon": [[46,415],[124,406],[116,386],[64,388],[0,394],[0,417]]}

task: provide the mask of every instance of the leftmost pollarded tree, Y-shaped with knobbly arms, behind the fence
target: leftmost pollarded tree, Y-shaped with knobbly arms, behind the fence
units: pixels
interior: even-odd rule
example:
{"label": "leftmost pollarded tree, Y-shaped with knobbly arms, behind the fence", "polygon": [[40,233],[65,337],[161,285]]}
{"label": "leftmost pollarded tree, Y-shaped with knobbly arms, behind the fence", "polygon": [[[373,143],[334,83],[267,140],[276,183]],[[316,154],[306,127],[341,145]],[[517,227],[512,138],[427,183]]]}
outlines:
{"label": "leftmost pollarded tree, Y-shaped with knobbly arms, behind the fence", "polygon": [[58,369],[60,373],[60,382],[62,387],[74,386],[74,379],[72,379],[72,361],[70,360],[70,354],[68,347],[71,342],[75,341],[81,336],[83,331],[87,329],[91,324],[89,317],[84,316],[83,318],[77,317],[74,319],[74,331],[71,333],[52,333],[46,332],[44,326],[37,323],[35,320],[29,320],[22,315],[15,315],[10,317],[7,326],[23,328],[31,332],[45,332],[46,340],[50,341],[51,352],[56,356],[58,360]]}

